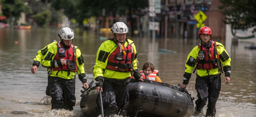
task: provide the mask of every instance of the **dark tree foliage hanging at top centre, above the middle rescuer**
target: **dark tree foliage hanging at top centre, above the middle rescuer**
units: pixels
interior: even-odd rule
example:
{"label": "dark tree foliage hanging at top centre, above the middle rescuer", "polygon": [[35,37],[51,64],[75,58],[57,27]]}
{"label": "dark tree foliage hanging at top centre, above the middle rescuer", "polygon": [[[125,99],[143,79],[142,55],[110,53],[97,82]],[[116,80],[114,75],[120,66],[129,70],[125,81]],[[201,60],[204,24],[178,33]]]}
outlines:
{"label": "dark tree foliage hanging at top centre, above the middle rescuer", "polygon": [[41,0],[50,3],[55,10],[63,10],[69,19],[75,19],[79,25],[85,18],[101,16],[102,9],[110,12],[115,1],[109,0]]}

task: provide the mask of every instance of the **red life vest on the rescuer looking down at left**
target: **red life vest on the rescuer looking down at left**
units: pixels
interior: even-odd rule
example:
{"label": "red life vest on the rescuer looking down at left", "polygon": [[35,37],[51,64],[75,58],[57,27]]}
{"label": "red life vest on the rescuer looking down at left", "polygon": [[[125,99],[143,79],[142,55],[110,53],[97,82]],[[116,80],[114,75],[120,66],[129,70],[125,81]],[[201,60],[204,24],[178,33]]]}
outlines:
{"label": "red life vest on the rescuer looking down at left", "polygon": [[[74,45],[71,45],[69,49],[65,49],[64,46],[61,43],[57,43],[57,53],[54,57],[54,60],[58,59],[65,59],[67,61],[67,64],[55,67],[53,68],[54,71],[60,71],[60,70],[68,70],[72,72],[77,72],[77,56],[76,56],[76,48]],[[69,55],[69,56],[68,56]]]}

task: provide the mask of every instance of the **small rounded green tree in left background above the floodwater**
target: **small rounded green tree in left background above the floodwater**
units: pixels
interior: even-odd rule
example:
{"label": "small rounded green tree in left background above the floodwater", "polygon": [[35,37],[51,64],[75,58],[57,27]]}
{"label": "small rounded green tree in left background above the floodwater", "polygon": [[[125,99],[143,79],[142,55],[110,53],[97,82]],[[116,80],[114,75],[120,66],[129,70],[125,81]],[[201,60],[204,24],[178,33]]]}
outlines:
{"label": "small rounded green tree in left background above the floodwater", "polygon": [[49,23],[51,17],[50,10],[44,10],[43,12],[39,12],[35,15],[32,15],[31,18],[34,18],[38,26],[45,26]]}

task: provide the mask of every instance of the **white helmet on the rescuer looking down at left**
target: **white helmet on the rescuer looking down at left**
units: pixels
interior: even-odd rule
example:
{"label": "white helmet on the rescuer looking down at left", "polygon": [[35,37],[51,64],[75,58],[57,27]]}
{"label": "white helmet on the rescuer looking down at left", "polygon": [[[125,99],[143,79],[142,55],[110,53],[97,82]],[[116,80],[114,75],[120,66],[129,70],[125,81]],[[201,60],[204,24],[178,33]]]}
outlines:
{"label": "white helmet on the rescuer looking down at left", "polygon": [[60,39],[71,40],[75,37],[75,34],[71,28],[65,27],[60,29],[58,36],[60,37]]}

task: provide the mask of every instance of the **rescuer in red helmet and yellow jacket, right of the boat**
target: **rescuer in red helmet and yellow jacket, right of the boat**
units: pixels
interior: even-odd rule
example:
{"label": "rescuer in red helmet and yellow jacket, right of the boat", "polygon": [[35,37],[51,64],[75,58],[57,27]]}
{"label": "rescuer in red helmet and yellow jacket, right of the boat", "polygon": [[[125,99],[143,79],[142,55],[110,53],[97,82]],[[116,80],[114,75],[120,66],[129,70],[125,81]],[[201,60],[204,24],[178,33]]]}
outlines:
{"label": "rescuer in red helmet and yellow jacket, right of the boat", "polygon": [[215,106],[221,91],[221,65],[225,73],[224,82],[228,84],[230,83],[231,59],[221,43],[210,40],[212,31],[209,27],[200,28],[198,36],[201,42],[188,55],[181,88],[187,87],[192,70],[197,69],[195,87],[198,99],[195,102],[194,116],[201,114],[208,98],[206,116],[215,117]]}

